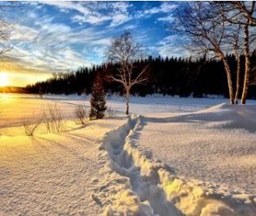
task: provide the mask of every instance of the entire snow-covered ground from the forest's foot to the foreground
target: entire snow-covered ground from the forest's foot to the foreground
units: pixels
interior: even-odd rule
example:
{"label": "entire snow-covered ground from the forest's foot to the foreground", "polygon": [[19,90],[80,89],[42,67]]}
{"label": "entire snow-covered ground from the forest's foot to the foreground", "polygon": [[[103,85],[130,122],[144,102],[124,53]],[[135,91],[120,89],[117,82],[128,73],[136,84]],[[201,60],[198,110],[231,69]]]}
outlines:
{"label": "entire snow-covered ground from the forest's foot to the foreground", "polygon": [[[0,94],[0,215],[256,215],[256,101],[110,96],[81,127],[89,96]],[[65,127],[24,134],[56,103]]]}

